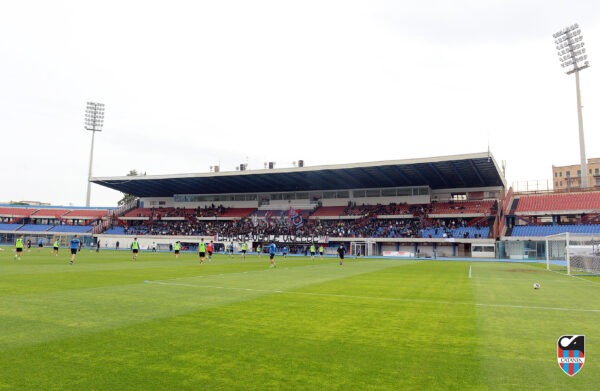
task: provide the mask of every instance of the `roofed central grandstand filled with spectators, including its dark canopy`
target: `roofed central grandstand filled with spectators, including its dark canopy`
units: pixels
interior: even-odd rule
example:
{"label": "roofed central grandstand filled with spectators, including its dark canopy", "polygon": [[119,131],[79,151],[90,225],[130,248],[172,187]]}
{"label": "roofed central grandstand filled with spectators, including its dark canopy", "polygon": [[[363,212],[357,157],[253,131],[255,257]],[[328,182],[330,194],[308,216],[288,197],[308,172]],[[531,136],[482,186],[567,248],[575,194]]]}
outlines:
{"label": "roofed central grandstand filled with spectators, including its dark canopy", "polygon": [[143,246],[275,241],[298,252],[343,243],[353,253],[421,257],[493,257],[506,188],[488,152],[92,182],[137,198],[98,235],[108,246],[133,236]]}

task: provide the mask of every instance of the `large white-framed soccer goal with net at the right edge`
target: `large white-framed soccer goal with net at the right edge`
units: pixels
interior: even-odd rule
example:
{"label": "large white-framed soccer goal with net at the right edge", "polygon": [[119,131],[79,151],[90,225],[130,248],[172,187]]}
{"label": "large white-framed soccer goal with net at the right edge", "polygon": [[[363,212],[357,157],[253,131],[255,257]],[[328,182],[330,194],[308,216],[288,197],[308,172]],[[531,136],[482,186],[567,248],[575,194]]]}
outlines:
{"label": "large white-framed soccer goal with net at the right edge", "polygon": [[546,268],[568,275],[600,275],[600,237],[565,232],[546,236]]}

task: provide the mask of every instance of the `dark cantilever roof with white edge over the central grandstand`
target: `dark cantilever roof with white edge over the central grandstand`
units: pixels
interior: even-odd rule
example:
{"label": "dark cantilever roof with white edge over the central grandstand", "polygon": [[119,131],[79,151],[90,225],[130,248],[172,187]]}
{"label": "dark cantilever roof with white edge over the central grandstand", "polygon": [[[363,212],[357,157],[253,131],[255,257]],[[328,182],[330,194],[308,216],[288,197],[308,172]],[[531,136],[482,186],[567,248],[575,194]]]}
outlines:
{"label": "dark cantilever roof with white edge over the central grandstand", "polygon": [[410,160],[217,173],[97,177],[92,182],[138,197],[429,186],[505,187],[489,152]]}

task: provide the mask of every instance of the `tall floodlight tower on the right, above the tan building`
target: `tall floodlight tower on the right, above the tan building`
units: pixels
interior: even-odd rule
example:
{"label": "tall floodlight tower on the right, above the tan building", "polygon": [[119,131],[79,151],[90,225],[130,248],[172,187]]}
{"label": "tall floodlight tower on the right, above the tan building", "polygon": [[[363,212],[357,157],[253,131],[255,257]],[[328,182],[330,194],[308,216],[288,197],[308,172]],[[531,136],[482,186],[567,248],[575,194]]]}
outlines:
{"label": "tall floodlight tower on the right, above the tan building", "polygon": [[565,27],[552,35],[555,39],[556,50],[561,66],[567,75],[575,74],[575,87],[577,89],[577,120],[579,122],[579,155],[581,158],[581,187],[588,186],[587,160],[585,158],[585,138],[583,136],[583,115],[581,113],[581,93],[579,91],[579,71],[590,66],[587,54],[583,47],[583,37],[577,23]]}

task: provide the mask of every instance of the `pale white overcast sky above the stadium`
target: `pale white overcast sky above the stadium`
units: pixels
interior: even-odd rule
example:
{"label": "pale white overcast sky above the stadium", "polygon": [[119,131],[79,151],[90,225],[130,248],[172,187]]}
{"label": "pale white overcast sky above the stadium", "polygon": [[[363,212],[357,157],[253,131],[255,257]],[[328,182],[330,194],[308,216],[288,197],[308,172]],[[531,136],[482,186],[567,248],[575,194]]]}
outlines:
{"label": "pale white overcast sky above the stadium", "polygon": [[[93,176],[485,152],[508,184],[579,163],[575,78],[552,34],[579,23],[587,157],[600,157],[600,2],[2,1],[0,202],[85,205]],[[121,193],[92,186],[92,206]]]}

